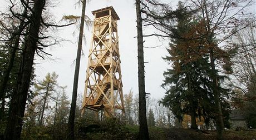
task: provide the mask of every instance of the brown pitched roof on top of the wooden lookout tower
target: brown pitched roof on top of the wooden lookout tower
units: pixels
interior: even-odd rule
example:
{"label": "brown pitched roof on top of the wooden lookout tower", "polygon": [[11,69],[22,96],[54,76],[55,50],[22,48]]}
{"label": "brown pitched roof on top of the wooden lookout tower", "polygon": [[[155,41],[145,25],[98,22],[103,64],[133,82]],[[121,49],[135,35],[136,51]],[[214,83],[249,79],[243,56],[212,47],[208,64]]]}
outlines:
{"label": "brown pitched roof on top of the wooden lookout tower", "polygon": [[109,15],[109,10],[111,10],[111,16],[115,19],[115,20],[120,20],[119,16],[117,15],[115,9],[110,6],[110,7],[106,7],[106,8],[101,8],[101,9],[97,9],[95,11],[92,11],[92,14],[95,15],[96,14],[96,18],[99,17],[104,17]]}

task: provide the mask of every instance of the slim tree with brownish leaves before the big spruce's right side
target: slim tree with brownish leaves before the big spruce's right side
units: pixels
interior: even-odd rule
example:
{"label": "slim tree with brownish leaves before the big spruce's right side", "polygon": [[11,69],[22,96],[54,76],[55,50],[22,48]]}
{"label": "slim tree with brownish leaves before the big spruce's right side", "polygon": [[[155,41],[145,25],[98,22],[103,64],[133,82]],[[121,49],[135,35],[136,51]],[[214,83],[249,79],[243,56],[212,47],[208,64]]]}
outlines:
{"label": "slim tree with brownish leaves before the big spruce's right side", "polygon": [[[245,2],[249,4],[251,1]],[[213,95],[216,109],[216,127],[217,127],[217,139],[222,139],[224,121],[223,121],[223,110],[221,109],[221,93],[220,93],[220,79],[218,77],[217,61],[223,63],[223,69],[228,73],[231,72],[229,60],[230,60],[230,50],[224,49],[220,45],[221,42],[224,42],[230,36],[234,35],[234,30],[227,30],[223,32],[224,28],[237,28],[238,30],[248,26],[252,23],[252,20],[248,18],[249,14],[244,14],[244,16],[239,16],[240,13],[245,12],[245,6],[243,1],[201,1],[194,2],[195,8],[200,9],[200,15],[203,17],[201,24],[204,26],[204,29],[198,31],[202,34],[203,38],[206,40],[207,45],[205,46],[205,53],[209,54],[210,57],[210,67],[211,67],[211,81],[213,84]],[[242,6],[242,8],[238,8]],[[246,7],[247,8],[247,7]],[[213,11],[213,9],[215,9]],[[229,13],[227,13],[229,11]],[[232,11],[232,12],[231,12]],[[233,18],[235,17],[235,18]],[[247,21],[244,21],[247,18]],[[239,26],[238,23],[239,22]],[[243,25],[242,25],[243,24]],[[222,32],[221,32],[222,31]],[[225,34],[220,36],[219,32]],[[194,49],[193,49],[194,50]],[[198,53],[198,52],[197,52]],[[200,55],[201,56],[201,55]]]}

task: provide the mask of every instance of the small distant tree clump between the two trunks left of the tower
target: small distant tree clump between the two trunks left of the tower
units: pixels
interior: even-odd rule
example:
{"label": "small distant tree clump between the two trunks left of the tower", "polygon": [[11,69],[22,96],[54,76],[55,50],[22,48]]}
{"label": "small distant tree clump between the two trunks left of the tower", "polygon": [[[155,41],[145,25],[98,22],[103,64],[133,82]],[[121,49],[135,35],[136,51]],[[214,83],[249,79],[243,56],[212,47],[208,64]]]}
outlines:
{"label": "small distant tree clump between the two trunks left of the tower", "polygon": [[65,88],[57,85],[55,72],[48,73],[45,79],[35,84],[35,97],[24,114],[23,139],[66,138],[63,130],[67,129],[70,102]]}

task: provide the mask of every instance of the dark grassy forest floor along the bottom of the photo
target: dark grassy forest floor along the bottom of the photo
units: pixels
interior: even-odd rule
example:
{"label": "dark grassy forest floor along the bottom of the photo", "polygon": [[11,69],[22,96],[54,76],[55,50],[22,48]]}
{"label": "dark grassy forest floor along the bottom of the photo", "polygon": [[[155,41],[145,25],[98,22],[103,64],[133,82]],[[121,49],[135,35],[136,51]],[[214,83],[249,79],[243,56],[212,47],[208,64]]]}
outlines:
{"label": "dark grassy forest floor along the bottom of the photo", "polygon": [[[1,126],[1,125],[0,125]],[[138,139],[139,126],[128,125],[118,119],[106,119],[104,122],[90,122],[79,123],[76,129],[76,139]],[[25,133],[23,131],[23,139],[61,139],[61,137],[53,137],[50,133],[51,129],[42,129],[34,127],[29,129],[31,133]],[[65,128],[63,128],[65,129]],[[65,133],[57,132],[56,136],[62,136]],[[200,131],[193,129],[181,129],[181,128],[159,128],[149,127],[149,137],[154,140],[200,140],[200,139],[216,139],[216,131]],[[65,136],[63,135],[63,138]],[[250,131],[224,131],[224,139],[256,139],[256,130]],[[1,139],[1,138],[0,138]]]}

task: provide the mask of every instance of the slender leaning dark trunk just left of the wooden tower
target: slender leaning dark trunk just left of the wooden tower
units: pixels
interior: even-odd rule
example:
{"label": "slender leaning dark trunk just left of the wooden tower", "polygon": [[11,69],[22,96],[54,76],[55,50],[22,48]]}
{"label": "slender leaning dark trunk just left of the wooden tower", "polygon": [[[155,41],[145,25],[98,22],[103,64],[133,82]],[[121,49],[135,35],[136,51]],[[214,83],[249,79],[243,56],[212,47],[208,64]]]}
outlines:
{"label": "slender leaning dark trunk just left of the wooden tower", "polygon": [[81,17],[80,32],[79,32],[79,38],[78,38],[78,48],[77,48],[77,54],[76,54],[76,68],[75,68],[75,76],[74,76],[74,82],[73,82],[72,102],[71,102],[71,108],[70,108],[70,117],[68,118],[67,139],[74,139],[76,98],[77,98],[78,76],[79,76],[80,59],[81,59],[81,51],[82,51],[83,26],[85,24],[85,8],[86,8],[86,0],[83,0],[82,1],[82,17]]}

